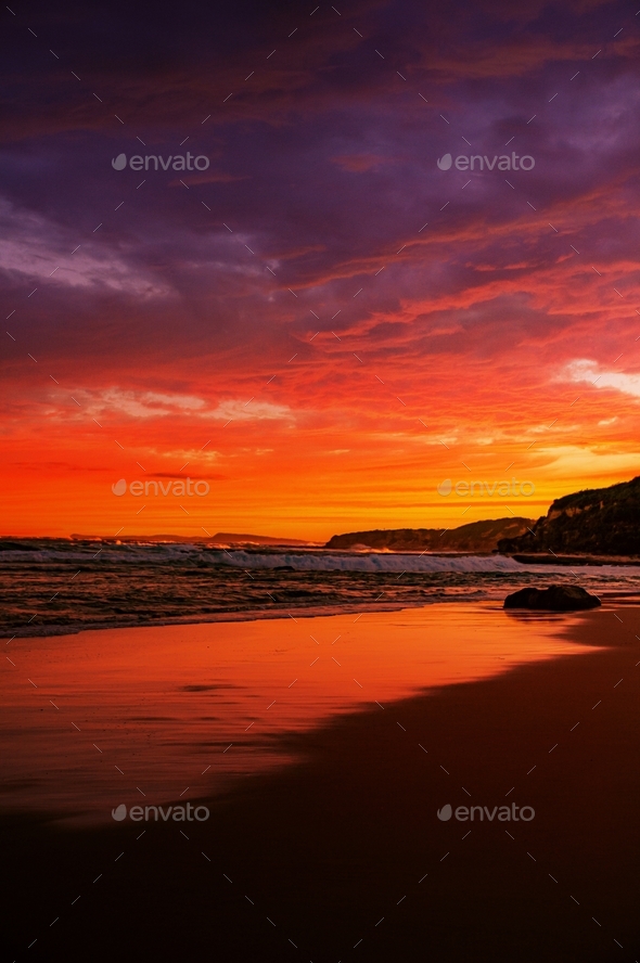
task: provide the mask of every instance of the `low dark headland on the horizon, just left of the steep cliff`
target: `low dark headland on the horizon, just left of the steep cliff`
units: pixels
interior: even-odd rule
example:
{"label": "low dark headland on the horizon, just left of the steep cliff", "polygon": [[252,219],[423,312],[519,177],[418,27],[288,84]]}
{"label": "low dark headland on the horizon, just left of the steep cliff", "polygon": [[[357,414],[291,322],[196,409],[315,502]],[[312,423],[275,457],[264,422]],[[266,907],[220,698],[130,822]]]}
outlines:
{"label": "low dark headland on the horizon, just left of the steep cliff", "polygon": [[391,552],[492,552],[499,539],[515,539],[533,526],[530,518],[495,518],[458,528],[376,528],[334,535],[327,549],[362,547]]}

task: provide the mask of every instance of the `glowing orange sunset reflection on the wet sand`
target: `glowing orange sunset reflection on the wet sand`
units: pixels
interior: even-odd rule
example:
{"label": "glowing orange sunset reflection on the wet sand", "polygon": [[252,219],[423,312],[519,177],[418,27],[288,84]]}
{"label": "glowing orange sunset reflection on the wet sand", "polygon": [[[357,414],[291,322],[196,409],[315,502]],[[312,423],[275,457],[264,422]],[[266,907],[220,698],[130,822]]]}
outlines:
{"label": "glowing orange sunset reflection on the wet sand", "polygon": [[12,722],[1,746],[4,805],[93,821],[187,787],[183,802],[218,793],[291,762],[284,733],[593,651],[560,633],[572,620],[450,603],[23,640],[12,645],[2,699]]}

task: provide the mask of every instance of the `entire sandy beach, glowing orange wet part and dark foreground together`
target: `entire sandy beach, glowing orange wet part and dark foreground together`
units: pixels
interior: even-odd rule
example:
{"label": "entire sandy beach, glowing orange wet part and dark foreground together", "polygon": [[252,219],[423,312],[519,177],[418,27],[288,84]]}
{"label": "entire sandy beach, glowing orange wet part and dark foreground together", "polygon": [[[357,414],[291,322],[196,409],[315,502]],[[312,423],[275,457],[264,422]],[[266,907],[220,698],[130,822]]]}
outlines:
{"label": "entire sandy beach, glowing orange wet part and dark foreground together", "polygon": [[635,960],[640,609],[357,618],[16,640],[5,958]]}

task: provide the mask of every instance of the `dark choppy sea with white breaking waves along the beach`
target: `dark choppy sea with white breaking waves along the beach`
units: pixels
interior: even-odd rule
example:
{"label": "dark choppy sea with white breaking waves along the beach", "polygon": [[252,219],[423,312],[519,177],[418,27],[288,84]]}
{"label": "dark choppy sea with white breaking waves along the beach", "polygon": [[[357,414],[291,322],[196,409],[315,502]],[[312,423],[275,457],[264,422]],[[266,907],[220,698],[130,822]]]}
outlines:
{"label": "dark choppy sea with white breaking waves along the beach", "polygon": [[333,551],[101,539],[0,539],[0,634],[502,602],[579,585],[637,604],[639,565],[522,564],[505,555]]}

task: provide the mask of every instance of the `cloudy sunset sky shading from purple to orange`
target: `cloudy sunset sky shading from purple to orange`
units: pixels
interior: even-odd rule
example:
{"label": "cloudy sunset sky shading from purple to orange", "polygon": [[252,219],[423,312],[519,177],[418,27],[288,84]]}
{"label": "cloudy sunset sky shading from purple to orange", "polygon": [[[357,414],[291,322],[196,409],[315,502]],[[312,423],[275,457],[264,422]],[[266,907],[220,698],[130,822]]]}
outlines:
{"label": "cloudy sunset sky shading from purple to orange", "polygon": [[0,534],[321,542],[639,474],[640,12],[178,14],[1,14]]}

